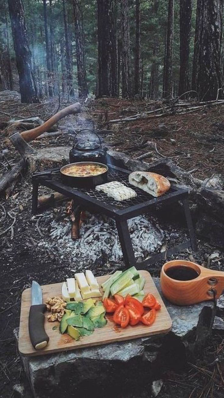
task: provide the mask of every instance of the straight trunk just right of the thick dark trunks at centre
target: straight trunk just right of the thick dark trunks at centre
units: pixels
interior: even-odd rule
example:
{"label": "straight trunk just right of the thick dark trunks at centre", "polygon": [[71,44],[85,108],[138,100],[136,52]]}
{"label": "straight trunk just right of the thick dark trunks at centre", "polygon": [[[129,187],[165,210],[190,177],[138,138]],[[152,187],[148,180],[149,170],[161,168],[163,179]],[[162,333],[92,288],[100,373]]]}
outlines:
{"label": "straight trunk just right of the thick dark trunks at centre", "polygon": [[121,0],[122,97],[130,98],[130,33],[128,0]]}

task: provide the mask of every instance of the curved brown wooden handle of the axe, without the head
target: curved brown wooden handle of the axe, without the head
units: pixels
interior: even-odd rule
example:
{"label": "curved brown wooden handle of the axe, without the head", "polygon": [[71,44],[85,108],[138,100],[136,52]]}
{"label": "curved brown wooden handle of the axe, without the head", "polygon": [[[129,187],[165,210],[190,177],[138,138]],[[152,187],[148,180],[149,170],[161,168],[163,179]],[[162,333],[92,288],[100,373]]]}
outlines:
{"label": "curved brown wooden handle of the axe, without the head", "polygon": [[58,122],[58,120],[62,119],[62,117],[70,115],[71,113],[79,113],[79,112],[81,112],[81,105],[79,102],[76,102],[73,105],[67,106],[66,108],[56,113],[49,120],[43,123],[43,125],[35,127],[35,129],[23,131],[21,133],[21,137],[26,142],[35,140],[35,138],[37,138],[42,133],[45,133],[45,131],[50,129],[55,123]]}

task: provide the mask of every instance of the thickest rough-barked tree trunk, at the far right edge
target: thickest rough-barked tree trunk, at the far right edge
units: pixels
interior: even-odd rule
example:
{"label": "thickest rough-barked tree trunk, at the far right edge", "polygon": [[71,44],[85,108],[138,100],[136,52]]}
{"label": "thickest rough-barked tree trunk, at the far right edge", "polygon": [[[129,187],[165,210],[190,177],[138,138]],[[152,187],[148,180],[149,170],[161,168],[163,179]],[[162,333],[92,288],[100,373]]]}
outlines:
{"label": "thickest rough-barked tree trunk, at the far right edge", "polygon": [[[222,0],[198,0],[194,85],[201,100],[223,98],[221,71]],[[200,34],[199,34],[199,33]],[[196,32],[195,32],[196,36]]]}

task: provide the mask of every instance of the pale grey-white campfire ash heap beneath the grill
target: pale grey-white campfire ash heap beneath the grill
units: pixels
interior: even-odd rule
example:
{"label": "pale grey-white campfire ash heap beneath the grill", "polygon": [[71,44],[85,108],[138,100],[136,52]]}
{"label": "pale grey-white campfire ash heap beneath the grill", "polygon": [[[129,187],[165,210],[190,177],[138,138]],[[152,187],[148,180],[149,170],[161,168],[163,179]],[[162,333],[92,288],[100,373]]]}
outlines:
{"label": "pale grey-white campfire ash heap beneath the grill", "polygon": [[[56,220],[53,219],[53,215],[49,215],[49,221],[50,241],[41,242],[41,246],[49,248],[51,243],[53,250],[55,247],[62,256],[70,255],[73,263],[78,260],[79,266],[92,265],[101,262],[100,259],[105,262],[121,261],[122,251],[113,219],[87,213],[87,217],[80,225],[80,238],[77,240],[71,239],[69,219]],[[134,254],[138,261],[160,250],[166,236],[154,220],[138,216],[128,220],[128,225]]]}

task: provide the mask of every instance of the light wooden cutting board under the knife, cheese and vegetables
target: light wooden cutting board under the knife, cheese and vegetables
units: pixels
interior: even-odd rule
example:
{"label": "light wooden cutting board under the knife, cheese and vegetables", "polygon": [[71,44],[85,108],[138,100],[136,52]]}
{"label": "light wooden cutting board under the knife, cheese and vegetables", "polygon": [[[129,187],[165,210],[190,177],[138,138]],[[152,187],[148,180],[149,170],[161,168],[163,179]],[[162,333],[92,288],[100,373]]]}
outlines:
{"label": "light wooden cutting board under the knife, cheese and vegetables", "polygon": [[[136,339],[145,336],[151,336],[152,334],[167,333],[171,330],[172,321],[168,314],[168,311],[162,301],[162,298],[156,289],[156,286],[152,280],[152,277],[148,271],[139,271],[140,275],[146,278],[144,286],[145,293],[152,293],[158,302],[161,304],[161,309],[157,311],[156,321],[152,326],[146,326],[144,324],[138,324],[136,326],[127,326],[122,329],[112,320],[111,315],[106,314],[107,325],[100,329],[95,329],[93,334],[90,336],[80,337],[79,341],[72,339],[68,334],[60,334],[59,322],[48,322],[47,314],[45,313],[45,331],[48,334],[50,341],[48,345],[39,351],[33,349],[29,339],[28,330],[28,318],[29,308],[31,305],[31,289],[26,289],[21,298],[21,313],[20,313],[20,324],[19,324],[19,351],[23,355],[44,355],[50,353],[56,353],[59,351],[71,350],[76,348],[90,347],[93,345],[113,343],[116,341],[124,341],[129,339]],[[109,275],[97,277],[99,285],[109,278]],[[47,297],[60,296],[61,297],[61,286],[62,283],[55,283],[52,285],[41,286],[43,291],[43,303]]]}

